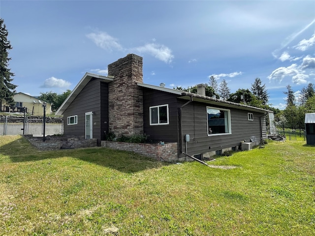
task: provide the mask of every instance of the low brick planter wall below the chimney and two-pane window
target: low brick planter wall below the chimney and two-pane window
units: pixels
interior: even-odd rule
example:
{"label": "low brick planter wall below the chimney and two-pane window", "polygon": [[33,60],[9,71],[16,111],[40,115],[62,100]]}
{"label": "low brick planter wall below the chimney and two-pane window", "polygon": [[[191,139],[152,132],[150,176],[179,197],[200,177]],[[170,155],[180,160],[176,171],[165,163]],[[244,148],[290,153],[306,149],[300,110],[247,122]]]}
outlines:
{"label": "low brick planter wall below the chimney and two-pane window", "polygon": [[158,161],[178,161],[177,143],[159,145],[101,141],[101,147],[133,151],[144,156],[153,157]]}

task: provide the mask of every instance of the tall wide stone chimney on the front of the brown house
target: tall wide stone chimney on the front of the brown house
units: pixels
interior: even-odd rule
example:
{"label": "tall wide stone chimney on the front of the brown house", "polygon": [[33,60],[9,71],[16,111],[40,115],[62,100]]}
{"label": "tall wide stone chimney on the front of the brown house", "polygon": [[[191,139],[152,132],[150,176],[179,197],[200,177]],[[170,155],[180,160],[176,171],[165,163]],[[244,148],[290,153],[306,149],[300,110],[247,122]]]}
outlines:
{"label": "tall wide stone chimney on the front of the brown house", "polygon": [[108,65],[114,81],[108,86],[109,131],[119,135],[143,134],[143,59],[135,54]]}

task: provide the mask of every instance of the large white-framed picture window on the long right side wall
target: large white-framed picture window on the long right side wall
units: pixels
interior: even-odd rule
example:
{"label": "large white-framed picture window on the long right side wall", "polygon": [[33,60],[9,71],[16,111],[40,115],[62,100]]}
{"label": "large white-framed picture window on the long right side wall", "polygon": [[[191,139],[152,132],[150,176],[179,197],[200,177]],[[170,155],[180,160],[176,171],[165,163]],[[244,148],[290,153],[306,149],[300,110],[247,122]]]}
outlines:
{"label": "large white-framed picture window on the long right side wall", "polygon": [[208,135],[231,133],[231,113],[227,109],[207,107]]}

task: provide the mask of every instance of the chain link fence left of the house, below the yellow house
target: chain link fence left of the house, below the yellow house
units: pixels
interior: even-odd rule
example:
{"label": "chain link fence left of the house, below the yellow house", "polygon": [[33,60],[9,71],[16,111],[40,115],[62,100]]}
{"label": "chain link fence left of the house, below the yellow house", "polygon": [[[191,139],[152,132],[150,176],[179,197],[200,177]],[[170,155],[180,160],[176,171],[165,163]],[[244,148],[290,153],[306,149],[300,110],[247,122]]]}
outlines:
{"label": "chain link fence left of the house, below the yellow house", "polygon": [[[0,135],[43,136],[43,119],[0,117]],[[45,123],[45,135],[63,134],[63,123]]]}

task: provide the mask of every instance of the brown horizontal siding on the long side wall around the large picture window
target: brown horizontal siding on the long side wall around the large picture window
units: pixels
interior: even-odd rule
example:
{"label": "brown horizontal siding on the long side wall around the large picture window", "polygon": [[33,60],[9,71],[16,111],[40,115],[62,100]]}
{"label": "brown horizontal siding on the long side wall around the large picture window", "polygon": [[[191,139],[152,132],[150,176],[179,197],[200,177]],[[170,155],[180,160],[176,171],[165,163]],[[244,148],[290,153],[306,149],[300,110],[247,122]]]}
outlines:
{"label": "brown horizontal siding on the long side wall around the large picture window", "polygon": [[[228,109],[224,107],[217,107],[230,110],[231,114],[231,134],[213,135],[207,134],[207,106],[210,104],[190,103],[183,108],[182,124],[183,136],[189,134],[190,142],[187,143],[188,154],[194,155],[222,148],[230,148],[240,146],[241,142],[250,139],[254,141],[260,140],[260,125],[259,117],[262,117],[262,127],[264,127],[264,114],[254,113],[253,120],[248,120],[248,111],[239,109]],[[263,130],[263,138],[266,138],[266,130]],[[184,143],[185,144],[185,143]]]}

